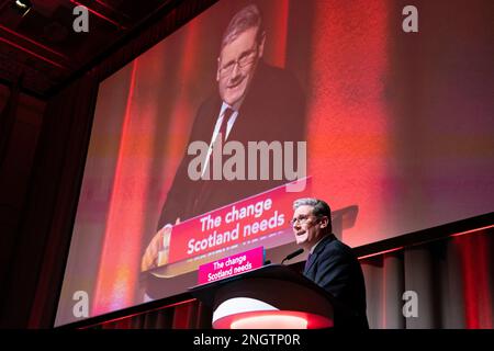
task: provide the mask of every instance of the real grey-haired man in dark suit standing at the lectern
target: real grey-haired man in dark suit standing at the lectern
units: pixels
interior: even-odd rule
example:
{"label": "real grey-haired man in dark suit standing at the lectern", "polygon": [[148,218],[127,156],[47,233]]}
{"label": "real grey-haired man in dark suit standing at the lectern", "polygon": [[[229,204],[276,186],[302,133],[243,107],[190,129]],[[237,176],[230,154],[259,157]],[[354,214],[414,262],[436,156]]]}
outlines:
{"label": "real grey-haired man in dark suit standing at the lectern", "polygon": [[335,328],[368,329],[366,284],[359,261],[332,233],[332,213],[317,199],[293,203],[296,244],[308,250],[304,275],[334,297]]}

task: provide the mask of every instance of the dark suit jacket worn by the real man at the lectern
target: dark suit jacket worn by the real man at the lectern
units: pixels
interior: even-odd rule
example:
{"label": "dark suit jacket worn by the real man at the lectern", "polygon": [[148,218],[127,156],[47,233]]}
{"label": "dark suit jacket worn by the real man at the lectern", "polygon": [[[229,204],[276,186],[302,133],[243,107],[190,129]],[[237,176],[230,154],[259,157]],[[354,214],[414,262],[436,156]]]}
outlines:
{"label": "dark suit jacket worn by the real man at the lectern", "polygon": [[333,234],[325,237],[307,260],[304,275],[332,295],[335,328],[369,328],[363,273],[350,247]]}

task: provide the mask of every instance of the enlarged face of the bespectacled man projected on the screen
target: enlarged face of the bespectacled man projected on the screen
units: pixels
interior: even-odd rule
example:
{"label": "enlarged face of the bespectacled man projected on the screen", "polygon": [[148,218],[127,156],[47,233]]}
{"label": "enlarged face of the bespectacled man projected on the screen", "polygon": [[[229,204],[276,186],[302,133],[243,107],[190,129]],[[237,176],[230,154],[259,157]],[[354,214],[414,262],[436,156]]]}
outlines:
{"label": "enlarged face of the bespectacled man projected on the screen", "polygon": [[224,102],[238,109],[262,56],[263,38],[257,42],[257,29],[248,29],[226,44],[217,59],[216,80]]}

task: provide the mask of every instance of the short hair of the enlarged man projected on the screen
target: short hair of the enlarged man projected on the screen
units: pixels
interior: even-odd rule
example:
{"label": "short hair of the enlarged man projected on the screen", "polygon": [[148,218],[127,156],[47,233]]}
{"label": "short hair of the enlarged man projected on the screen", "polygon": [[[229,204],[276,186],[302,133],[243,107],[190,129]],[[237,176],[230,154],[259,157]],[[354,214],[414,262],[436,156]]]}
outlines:
{"label": "short hair of the enlarged man projected on the screen", "polygon": [[265,29],[259,8],[254,3],[243,8],[229,21],[229,24],[223,34],[221,49],[235,41],[238,35],[250,29],[257,29],[257,42],[260,43]]}

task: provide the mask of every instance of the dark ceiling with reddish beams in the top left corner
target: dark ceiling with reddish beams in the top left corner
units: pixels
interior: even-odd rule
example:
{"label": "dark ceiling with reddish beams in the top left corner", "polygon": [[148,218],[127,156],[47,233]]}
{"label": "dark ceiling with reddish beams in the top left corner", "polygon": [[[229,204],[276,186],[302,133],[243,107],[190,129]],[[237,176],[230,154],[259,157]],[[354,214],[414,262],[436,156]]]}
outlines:
{"label": "dark ceiling with reddish beams in the top left corner", "polygon": [[[26,92],[47,97],[172,1],[31,0],[24,15],[14,2],[0,0],[0,82],[22,77]],[[88,8],[88,33],[72,29],[77,5]]]}

